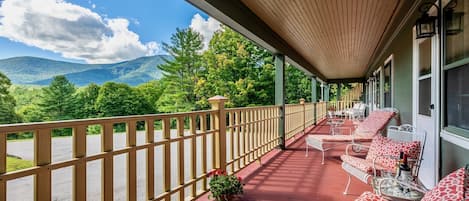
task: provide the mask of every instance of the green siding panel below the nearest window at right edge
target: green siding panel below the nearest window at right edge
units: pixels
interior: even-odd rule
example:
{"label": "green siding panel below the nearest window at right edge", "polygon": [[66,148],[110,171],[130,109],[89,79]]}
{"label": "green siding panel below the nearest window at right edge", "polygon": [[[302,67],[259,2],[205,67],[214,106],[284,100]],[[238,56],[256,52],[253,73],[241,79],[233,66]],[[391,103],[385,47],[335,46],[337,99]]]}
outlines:
{"label": "green siding panel below the nearest window at right edge", "polygon": [[441,176],[464,167],[469,163],[469,150],[441,140]]}

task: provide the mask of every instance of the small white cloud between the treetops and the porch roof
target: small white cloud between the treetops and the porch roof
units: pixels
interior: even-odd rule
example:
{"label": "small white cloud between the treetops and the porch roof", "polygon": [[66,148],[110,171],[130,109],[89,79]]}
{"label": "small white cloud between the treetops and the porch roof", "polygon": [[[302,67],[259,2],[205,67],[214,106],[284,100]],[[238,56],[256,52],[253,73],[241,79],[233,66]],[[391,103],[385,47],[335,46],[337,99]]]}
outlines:
{"label": "small white cloud between the treetops and the porch roof", "polygon": [[212,17],[208,17],[205,20],[198,13],[192,17],[191,25],[189,26],[193,30],[199,32],[204,37],[204,49],[208,48],[210,39],[212,39],[213,34],[221,28],[220,22]]}

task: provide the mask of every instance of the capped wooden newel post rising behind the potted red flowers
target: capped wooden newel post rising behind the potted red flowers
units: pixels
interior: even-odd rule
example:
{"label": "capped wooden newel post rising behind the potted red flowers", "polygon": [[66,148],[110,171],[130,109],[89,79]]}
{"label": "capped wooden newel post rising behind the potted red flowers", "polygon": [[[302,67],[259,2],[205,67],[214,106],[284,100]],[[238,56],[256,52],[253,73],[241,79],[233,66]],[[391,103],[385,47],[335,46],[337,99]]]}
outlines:
{"label": "capped wooden newel post rising behind the potted red flowers", "polygon": [[228,98],[223,96],[214,96],[208,99],[208,102],[212,105],[212,110],[218,110],[214,118],[213,130],[217,130],[214,133],[213,141],[215,142],[215,167],[226,171],[226,112],[225,102]]}

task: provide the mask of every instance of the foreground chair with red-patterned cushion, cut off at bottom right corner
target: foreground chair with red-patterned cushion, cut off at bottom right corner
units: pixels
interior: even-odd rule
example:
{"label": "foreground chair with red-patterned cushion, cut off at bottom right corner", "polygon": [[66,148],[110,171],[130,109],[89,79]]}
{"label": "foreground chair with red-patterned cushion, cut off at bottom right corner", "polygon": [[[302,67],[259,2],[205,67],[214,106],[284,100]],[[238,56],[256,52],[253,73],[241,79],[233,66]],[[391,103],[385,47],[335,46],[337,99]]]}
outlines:
{"label": "foreground chair with red-patterned cushion, cut off at bottom right corner", "polygon": [[[394,178],[389,178],[393,182],[399,183],[415,191],[425,193],[422,201],[439,201],[439,200],[469,200],[469,165],[460,168],[447,176],[445,176],[438,185],[430,191],[427,191],[416,184],[405,183]],[[380,192],[381,187],[378,186],[378,192],[364,192],[355,201],[387,201]]]}

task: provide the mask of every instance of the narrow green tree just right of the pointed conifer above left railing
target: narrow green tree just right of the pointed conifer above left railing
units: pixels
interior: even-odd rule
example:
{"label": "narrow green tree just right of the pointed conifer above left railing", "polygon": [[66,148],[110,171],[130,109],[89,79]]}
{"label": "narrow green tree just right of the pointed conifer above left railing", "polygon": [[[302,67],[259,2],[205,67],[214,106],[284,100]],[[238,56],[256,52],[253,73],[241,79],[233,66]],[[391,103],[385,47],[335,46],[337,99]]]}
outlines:
{"label": "narrow green tree just right of the pointed conifer above left railing", "polygon": [[91,83],[87,87],[82,88],[76,93],[76,109],[75,117],[84,119],[97,117],[98,112],[96,111],[95,104],[98,99],[100,87]]}

